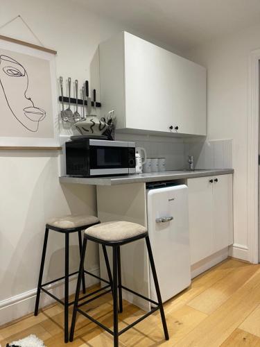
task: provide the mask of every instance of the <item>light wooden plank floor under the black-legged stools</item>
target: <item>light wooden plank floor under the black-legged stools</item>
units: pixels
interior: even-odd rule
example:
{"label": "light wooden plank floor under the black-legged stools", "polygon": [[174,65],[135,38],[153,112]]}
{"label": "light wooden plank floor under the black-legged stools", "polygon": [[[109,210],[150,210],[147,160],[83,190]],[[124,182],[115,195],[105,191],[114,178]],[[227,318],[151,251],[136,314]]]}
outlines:
{"label": "light wooden plank floor under the black-legged stools", "polygon": [[[165,341],[159,313],[120,337],[120,346],[260,346],[260,265],[229,259],[194,279],[189,289],[165,305],[170,340]],[[112,301],[107,294],[89,303],[87,312],[112,328]],[[46,347],[112,346],[112,336],[78,316],[75,339],[63,343],[62,307],[46,307],[0,329],[0,344],[30,334]],[[143,312],[124,301],[120,327]]]}

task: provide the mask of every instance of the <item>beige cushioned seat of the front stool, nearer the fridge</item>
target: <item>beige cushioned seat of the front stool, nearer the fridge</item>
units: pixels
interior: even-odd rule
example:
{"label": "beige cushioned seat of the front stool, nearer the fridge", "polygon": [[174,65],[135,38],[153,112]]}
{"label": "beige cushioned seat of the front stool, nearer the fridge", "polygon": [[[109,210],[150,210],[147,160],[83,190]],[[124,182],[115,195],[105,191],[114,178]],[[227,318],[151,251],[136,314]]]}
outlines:
{"label": "beige cushioned seat of the front stool, nearer the fridge", "polygon": [[145,234],[147,228],[130,221],[108,221],[96,224],[85,230],[85,235],[101,239],[103,241],[123,241]]}

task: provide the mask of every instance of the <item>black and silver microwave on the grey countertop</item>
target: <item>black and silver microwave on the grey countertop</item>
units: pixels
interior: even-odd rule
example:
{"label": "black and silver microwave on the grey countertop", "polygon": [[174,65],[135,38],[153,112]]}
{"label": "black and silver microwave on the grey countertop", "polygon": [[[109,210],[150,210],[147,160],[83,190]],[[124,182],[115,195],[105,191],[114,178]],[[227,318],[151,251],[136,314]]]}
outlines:
{"label": "black and silver microwave on the grey countertop", "polygon": [[135,174],[135,142],[75,139],[65,149],[67,176]]}

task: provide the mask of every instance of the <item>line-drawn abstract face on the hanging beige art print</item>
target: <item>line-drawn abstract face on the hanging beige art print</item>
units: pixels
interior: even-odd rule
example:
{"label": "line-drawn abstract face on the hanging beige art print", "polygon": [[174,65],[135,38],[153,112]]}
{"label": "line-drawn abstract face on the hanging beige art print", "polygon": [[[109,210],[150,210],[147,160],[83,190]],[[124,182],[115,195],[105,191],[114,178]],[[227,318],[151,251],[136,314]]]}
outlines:
{"label": "line-drawn abstract face on the hanging beige art print", "polygon": [[[17,60],[0,55],[0,85],[12,115],[21,126],[36,133],[40,121],[46,117],[46,112],[36,107],[31,97],[26,95],[29,85],[26,69]],[[22,104],[17,101],[17,96],[21,95],[24,95]]]}

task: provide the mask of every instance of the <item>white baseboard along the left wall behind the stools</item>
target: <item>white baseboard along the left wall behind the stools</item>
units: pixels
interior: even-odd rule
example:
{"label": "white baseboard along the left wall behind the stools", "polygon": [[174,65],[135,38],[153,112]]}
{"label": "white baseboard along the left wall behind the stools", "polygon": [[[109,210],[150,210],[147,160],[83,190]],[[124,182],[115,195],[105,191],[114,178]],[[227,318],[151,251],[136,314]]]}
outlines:
{"label": "white baseboard along the left wall behind the stools", "polygon": [[[89,270],[89,272],[93,273],[96,276],[99,276],[99,267]],[[95,285],[99,282],[92,276],[86,275],[85,277],[87,287]],[[71,276],[69,278],[69,295],[74,294],[76,291],[76,280],[77,275]],[[64,297],[64,285],[62,281],[55,282],[55,285],[49,285],[49,287],[46,287],[46,289],[48,289],[55,296],[58,296],[58,298]],[[0,326],[33,312],[35,306],[36,290],[36,288],[31,289],[17,296],[12,296],[11,298],[0,301]],[[42,292],[40,307],[50,305],[53,302],[54,300],[53,298],[51,298],[51,296]]]}

